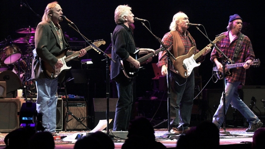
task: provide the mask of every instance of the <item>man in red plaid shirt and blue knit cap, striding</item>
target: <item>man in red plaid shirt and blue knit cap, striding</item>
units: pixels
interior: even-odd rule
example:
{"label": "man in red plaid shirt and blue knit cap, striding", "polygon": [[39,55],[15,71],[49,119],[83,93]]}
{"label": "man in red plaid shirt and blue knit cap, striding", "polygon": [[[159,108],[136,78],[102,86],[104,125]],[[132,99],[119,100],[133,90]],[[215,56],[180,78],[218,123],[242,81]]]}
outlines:
{"label": "man in red plaid shirt and blue knit cap, striding", "polygon": [[[254,51],[252,49],[252,44],[250,39],[246,35],[242,35],[240,32],[242,28],[242,18],[238,14],[230,15],[229,23],[226,32],[222,34],[226,35],[219,42],[216,42],[216,46],[231,60],[232,63],[242,63],[245,62],[243,67],[236,67],[230,69],[230,75],[225,76],[225,112],[229,104],[236,108],[249,122],[249,127],[246,132],[254,132],[257,128],[262,126],[262,122],[258,117],[248,108],[248,106],[239,98],[237,93],[237,86],[241,83],[245,83],[245,69],[249,68],[249,62],[254,58]],[[241,40],[241,42],[238,40]],[[239,44],[238,44],[239,43]],[[241,45],[240,45],[241,44]],[[240,46],[239,46],[240,45]],[[236,46],[241,47],[238,54],[234,54],[236,51]],[[218,57],[223,57],[216,48],[213,48],[211,53],[211,61],[215,62],[218,71],[223,72],[222,61]],[[236,58],[234,58],[236,57]],[[220,60],[220,61],[219,61]],[[225,68],[227,71],[227,68]],[[223,123],[224,113],[223,113],[223,97],[221,97],[220,104],[213,116],[213,123],[220,128]]]}

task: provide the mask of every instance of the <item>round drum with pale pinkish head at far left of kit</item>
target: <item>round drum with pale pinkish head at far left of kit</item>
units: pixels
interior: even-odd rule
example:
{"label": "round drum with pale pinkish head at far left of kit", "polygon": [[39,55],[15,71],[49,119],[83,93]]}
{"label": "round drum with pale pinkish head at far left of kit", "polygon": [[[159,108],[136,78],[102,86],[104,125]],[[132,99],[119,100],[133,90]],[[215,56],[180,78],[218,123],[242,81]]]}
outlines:
{"label": "round drum with pale pinkish head at far left of kit", "polygon": [[15,44],[6,46],[4,48],[4,52],[6,55],[4,63],[6,64],[14,63],[18,61],[22,56],[22,52],[20,51],[19,46]]}

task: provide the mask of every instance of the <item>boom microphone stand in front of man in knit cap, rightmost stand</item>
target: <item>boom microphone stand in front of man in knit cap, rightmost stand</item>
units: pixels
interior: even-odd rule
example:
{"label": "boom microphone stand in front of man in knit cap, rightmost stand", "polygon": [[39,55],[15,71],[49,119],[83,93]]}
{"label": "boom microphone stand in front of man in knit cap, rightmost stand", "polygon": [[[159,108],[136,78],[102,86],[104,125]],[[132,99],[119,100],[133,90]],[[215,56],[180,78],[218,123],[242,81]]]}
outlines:
{"label": "boom microphone stand in front of man in knit cap, rightmost stand", "polygon": [[[226,58],[227,60],[229,60],[231,62],[231,60],[208,38],[207,35],[205,35],[200,29],[199,27],[196,26],[196,28],[210,41],[210,43],[215,47],[215,49],[221,53],[223,55],[223,58]],[[228,131],[226,131],[226,113],[225,113],[225,61],[224,59],[222,60],[222,64],[223,64],[223,114],[224,114],[224,121],[223,121],[223,130],[224,133],[229,133]]]}

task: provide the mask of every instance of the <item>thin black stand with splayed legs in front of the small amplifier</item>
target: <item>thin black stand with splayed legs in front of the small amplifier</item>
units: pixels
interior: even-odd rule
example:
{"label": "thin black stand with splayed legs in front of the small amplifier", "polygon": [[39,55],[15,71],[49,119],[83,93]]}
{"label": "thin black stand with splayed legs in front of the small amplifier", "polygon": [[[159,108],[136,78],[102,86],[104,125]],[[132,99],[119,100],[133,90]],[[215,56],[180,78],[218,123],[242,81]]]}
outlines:
{"label": "thin black stand with splayed legs in front of the small amplifier", "polygon": [[[69,115],[72,115],[79,123],[81,123],[85,128],[87,128],[87,130],[91,130],[89,129],[82,121],[84,120],[84,118],[86,117],[81,117],[81,118],[77,118],[69,109],[69,104],[68,104],[68,97],[67,97],[67,92],[66,92],[66,83],[70,80],[72,80],[74,78],[68,78],[67,80],[65,80],[65,82],[63,83],[64,85],[64,91],[65,91],[65,100],[66,100],[66,107],[67,107],[67,111],[66,111],[66,115],[65,115],[65,118],[64,118],[64,121],[65,121],[65,131],[67,130],[67,123],[72,120],[73,118],[71,118],[70,120],[68,120],[68,116]],[[82,121],[80,119],[83,119]]]}

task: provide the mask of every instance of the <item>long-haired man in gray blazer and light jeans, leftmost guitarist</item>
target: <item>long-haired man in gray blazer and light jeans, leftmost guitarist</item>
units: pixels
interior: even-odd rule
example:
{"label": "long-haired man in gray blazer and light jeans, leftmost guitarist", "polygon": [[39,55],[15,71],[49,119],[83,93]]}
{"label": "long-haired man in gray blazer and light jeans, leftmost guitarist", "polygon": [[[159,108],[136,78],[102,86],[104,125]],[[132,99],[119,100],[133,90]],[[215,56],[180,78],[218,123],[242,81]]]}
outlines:
{"label": "long-haired man in gray blazer and light jeans, leftmost guitarist", "polygon": [[[35,32],[36,48],[33,51],[32,79],[36,80],[37,86],[37,111],[43,113],[42,125],[44,131],[49,132],[56,132],[57,87],[58,81],[64,79],[64,74],[58,74],[57,71],[60,72],[65,63],[56,55],[60,53],[59,55],[68,56],[79,52],[78,57],[81,57],[86,53],[85,49],[80,51],[64,49],[69,45],[59,25],[63,20],[62,14],[62,8],[57,1],[49,3]],[[50,71],[52,72],[49,73]]]}

